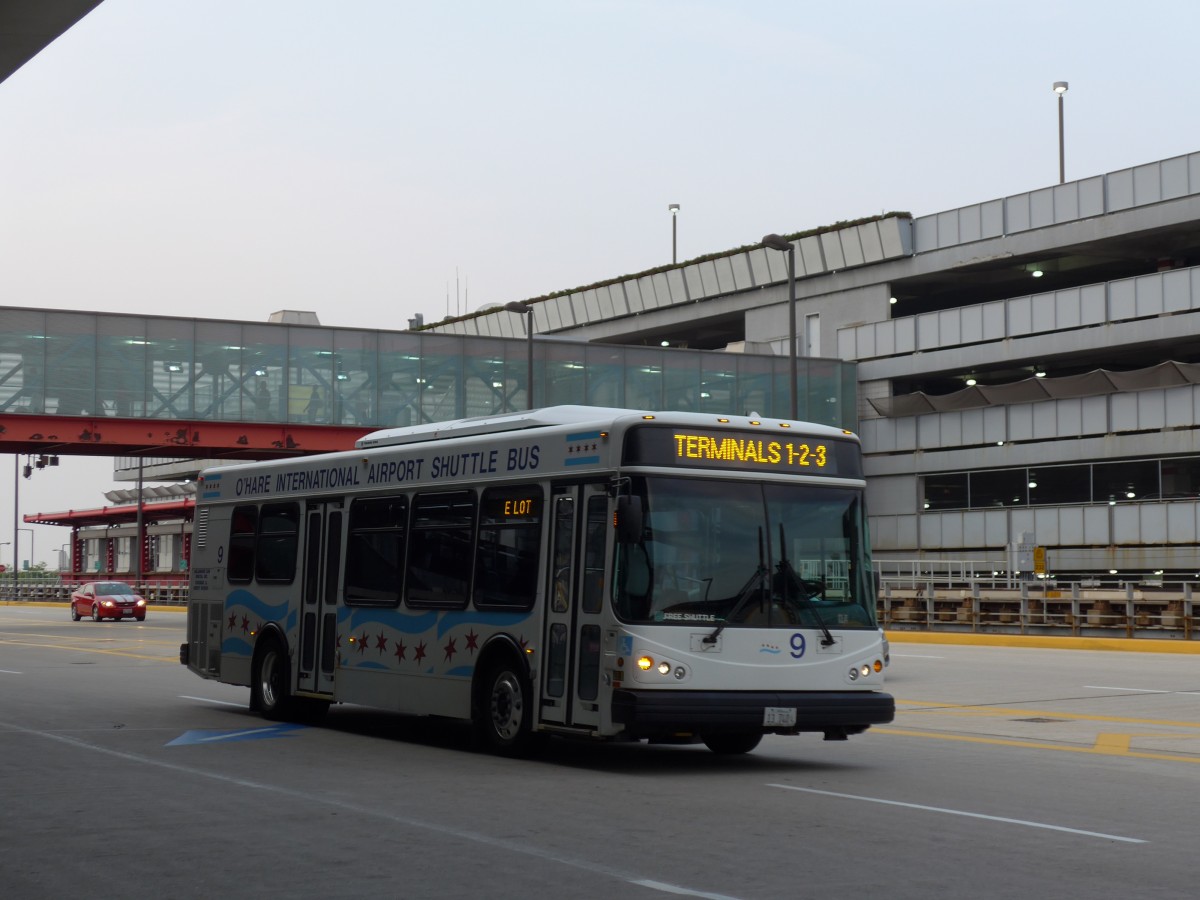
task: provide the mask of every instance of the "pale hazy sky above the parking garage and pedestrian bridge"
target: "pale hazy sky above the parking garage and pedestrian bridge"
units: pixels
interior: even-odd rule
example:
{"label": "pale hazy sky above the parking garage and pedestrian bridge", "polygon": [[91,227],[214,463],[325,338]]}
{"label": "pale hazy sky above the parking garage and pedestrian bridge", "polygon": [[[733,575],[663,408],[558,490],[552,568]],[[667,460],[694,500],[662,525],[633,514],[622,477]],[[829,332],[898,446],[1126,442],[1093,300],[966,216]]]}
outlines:
{"label": "pale hazy sky above the parking garage and pedestrian bridge", "polygon": [[[1182,0],[104,0],[0,83],[0,305],[402,329],[667,263],[670,203],[680,259],[953,209],[1057,181],[1056,80],[1068,179],[1200,150],[1198,26]],[[106,472],[65,460],[20,510],[102,505]],[[0,466],[0,540],[11,499]]]}

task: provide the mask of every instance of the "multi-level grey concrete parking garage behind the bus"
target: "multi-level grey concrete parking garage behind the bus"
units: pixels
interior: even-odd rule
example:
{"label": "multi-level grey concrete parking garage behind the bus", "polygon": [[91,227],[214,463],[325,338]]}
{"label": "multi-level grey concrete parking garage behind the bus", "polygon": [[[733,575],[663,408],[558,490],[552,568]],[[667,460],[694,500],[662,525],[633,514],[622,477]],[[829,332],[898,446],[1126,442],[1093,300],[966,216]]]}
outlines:
{"label": "multi-level grey concrete parking garage behind the bus", "polygon": [[[1200,577],[1200,154],[792,236],[802,359],[858,364],[877,560]],[[564,337],[787,353],[755,245],[532,302]]]}

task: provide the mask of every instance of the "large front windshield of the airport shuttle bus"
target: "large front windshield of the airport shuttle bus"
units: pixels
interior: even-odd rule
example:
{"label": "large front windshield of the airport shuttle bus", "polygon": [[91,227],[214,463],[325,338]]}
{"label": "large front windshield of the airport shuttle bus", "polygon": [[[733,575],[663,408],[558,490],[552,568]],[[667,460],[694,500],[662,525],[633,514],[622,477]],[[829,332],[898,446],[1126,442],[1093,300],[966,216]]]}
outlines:
{"label": "large front windshield of the airport shuttle bus", "polygon": [[631,491],[643,527],[617,550],[623,620],[876,628],[860,490],[650,476]]}

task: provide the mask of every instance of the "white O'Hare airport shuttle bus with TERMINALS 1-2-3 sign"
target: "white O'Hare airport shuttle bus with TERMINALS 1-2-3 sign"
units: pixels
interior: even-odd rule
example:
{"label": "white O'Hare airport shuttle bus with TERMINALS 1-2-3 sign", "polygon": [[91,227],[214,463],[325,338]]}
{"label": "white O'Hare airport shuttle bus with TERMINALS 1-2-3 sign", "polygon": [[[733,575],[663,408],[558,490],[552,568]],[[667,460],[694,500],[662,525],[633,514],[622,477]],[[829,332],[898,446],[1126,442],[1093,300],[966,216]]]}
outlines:
{"label": "white O'Hare airport shuttle bus with TERMINALS 1-2-3 sign", "polygon": [[554,407],[209,469],[193,672],[269,719],[330,703],[544,734],[844,739],[892,721],[858,439]]}

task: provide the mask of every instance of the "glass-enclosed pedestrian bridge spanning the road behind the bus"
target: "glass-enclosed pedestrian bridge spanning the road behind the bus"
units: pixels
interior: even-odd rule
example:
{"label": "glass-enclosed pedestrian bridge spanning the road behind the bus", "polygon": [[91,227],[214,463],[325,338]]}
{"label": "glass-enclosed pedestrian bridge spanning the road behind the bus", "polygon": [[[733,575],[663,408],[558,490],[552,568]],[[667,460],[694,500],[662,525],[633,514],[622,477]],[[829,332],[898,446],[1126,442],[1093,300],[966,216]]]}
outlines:
{"label": "glass-enclosed pedestrian bridge spanning the road behind the bus", "polygon": [[[19,415],[272,426],[239,439],[280,448],[277,426],[492,415],[526,409],[530,388],[535,406],[784,418],[788,377],[787,356],[724,350],[0,307],[0,451],[38,449],[10,443]],[[800,419],[856,427],[853,364],[802,358],[798,385]]]}

